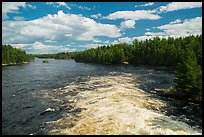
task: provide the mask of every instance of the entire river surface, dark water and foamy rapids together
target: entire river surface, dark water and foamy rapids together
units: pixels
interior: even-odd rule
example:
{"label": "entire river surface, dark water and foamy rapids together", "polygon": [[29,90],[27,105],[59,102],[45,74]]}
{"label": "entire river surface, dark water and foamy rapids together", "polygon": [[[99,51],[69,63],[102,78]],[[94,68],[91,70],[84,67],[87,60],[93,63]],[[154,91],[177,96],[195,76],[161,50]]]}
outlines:
{"label": "entire river surface, dark water and foamy rapids together", "polygon": [[151,92],[173,86],[175,76],[164,67],[42,61],[2,67],[2,134],[202,134],[201,106]]}

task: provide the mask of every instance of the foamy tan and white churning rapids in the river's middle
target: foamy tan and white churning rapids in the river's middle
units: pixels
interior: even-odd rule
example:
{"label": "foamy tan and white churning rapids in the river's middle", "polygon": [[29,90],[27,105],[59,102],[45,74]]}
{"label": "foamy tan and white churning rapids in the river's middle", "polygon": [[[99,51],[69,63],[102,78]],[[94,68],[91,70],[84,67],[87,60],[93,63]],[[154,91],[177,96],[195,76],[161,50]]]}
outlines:
{"label": "foamy tan and white churning rapids in the river's middle", "polygon": [[62,101],[63,106],[74,108],[69,111],[73,113],[48,122],[48,134],[201,134],[199,129],[166,116],[167,112],[162,112],[166,102],[135,87],[133,82],[138,80],[131,75],[91,77],[86,82],[73,82],[54,92],[41,94],[41,97]]}

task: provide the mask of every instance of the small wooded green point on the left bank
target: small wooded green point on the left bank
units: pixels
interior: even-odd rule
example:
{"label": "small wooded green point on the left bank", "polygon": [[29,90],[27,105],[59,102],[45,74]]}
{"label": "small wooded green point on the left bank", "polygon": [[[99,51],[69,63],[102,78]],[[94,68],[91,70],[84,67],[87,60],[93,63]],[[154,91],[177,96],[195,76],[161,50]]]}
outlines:
{"label": "small wooded green point on the left bank", "polygon": [[11,45],[2,45],[2,64],[21,64],[34,60],[35,56],[25,51],[13,48]]}

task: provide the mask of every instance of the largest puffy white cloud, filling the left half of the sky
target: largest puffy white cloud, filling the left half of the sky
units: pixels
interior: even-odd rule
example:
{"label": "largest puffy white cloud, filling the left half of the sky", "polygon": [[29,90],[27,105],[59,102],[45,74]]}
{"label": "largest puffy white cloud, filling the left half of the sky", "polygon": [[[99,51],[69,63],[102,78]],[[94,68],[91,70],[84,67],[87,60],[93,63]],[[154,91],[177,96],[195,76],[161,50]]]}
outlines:
{"label": "largest puffy white cloud, filling the left half of the sky", "polygon": [[95,36],[117,38],[121,36],[121,33],[115,25],[97,23],[82,15],[65,14],[63,11],[36,20],[2,22],[2,42],[8,44],[46,40],[93,41]]}

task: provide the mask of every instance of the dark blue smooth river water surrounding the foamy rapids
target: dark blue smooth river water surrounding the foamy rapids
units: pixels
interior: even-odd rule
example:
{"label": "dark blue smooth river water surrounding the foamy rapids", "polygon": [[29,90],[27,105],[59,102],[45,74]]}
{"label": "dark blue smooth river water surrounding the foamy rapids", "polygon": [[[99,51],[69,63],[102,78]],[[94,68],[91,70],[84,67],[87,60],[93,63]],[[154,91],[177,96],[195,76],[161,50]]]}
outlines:
{"label": "dark blue smooth river water surrounding the foamy rapids", "polygon": [[[127,76],[137,79],[130,83],[134,85],[133,88],[138,87],[152,97],[166,102],[165,108],[155,111],[165,114],[168,118],[184,122],[191,127],[190,130],[195,129],[196,133],[201,133],[201,106],[150,93],[153,88],[172,87],[174,74],[165,68],[48,60],[49,63],[42,63],[43,59],[35,59],[28,64],[2,67],[2,134],[47,134],[49,128],[46,128],[46,123],[61,119],[69,112],[80,113],[80,111],[71,112],[71,107],[67,108],[63,105],[66,95],[77,96],[78,92],[106,88],[106,86],[108,88],[108,85],[104,84],[106,81],[116,78],[115,82],[117,82],[118,78],[125,82]],[[84,86],[88,85],[87,81],[90,80],[89,87]],[[109,82],[109,86],[113,82]],[[130,81],[127,79],[127,82]],[[60,95],[56,93],[62,99],[61,102],[42,97],[55,95],[56,89],[60,90],[70,84],[71,92]],[[77,84],[84,85],[76,88]]]}

